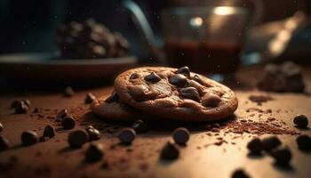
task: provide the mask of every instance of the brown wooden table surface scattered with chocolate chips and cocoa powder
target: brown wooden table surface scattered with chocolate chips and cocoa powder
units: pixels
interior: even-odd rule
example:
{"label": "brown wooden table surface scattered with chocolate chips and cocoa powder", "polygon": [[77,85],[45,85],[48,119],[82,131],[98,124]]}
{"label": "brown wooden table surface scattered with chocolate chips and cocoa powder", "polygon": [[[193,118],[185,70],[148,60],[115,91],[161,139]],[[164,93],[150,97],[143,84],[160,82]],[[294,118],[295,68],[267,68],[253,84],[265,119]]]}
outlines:
{"label": "brown wooden table surface scattered with chocolate chips and cocoa powder", "polygon": [[[292,118],[297,114],[311,117],[311,97],[302,93],[263,93],[252,86],[259,78],[261,69],[249,68],[240,70],[235,93],[239,100],[236,110],[236,121],[250,119],[255,122],[275,117],[277,122],[283,121],[287,130],[297,134],[311,135],[310,129],[298,130],[292,125]],[[311,69],[304,69],[307,88],[311,88]],[[247,87],[242,87],[246,85]],[[250,87],[251,86],[251,87]],[[180,147],[180,158],[172,162],[159,159],[159,152],[167,141],[171,141],[173,127],[163,128],[158,122],[147,134],[137,135],[131,146],[118,144],[117,131],[127,125],[123,123],[107,123],[93,117],[88,106],[84,104],[86,93],[101,96],[110,93],[112,86],[100,86],[92,89],[79,90],[71,98],[63,97],[61,92],[38,93],[27,96],[25,93],[2,93],[0,95],[0,110],[3,116],[0,122],[4,125],[3,134],[9,141],[11,149],[0,152],[0,177],[230,177],[236,168],[243,168],[251,177],[311,177],[311,153],[301,152],[297,148],[295,139],[297,134],[277,135],[283,145],[287,145],[293,158],[291,167],[281,168],[273,164],[273,158],[264,155],[259,158],[248,156],[246,144],[258,134],[238,134],[228,131],[226,127],[219,133],[211,133],[195,124],[189,125],[190,141],[186,147]],[[251,95],[269,94],[272,101],[258,106],[249,100]],[[28,114],[4,114],[12,101],[28,98],[32,108]],[[32,109],[39,108],[38,114],[31,114]],[[100,141],[104,145],[105,155],[100,162],[89,164],[84,162],[82,149],[68,148],[67,137],[71,131],[63,131],[55,122],[54,116],[58,109],[68,108],[76,117],[79,125],[75,129],[84,128],[92,124],[100,128],[103,137]],[[254,109],[256,108],[256,109]],[[248,110],[248,109],[253,109]],[[259,112],[271,109],[272,113]],[[247,111],[248,110],[248,111]],[[260,116],[259,116],[260,115]],[[20,145],[20,134],[26,130],[36,130],[43,133],[44,125],[51,124],[57,134],[47,142],[40,142],[30,147]],[[195,126],[192,126],[195,125]],[[205,125],[205,124],[199,124]],[[211,133],[211,134],[208,134]],[[267,137],[263,132],[260,138]],[[219,137],[224,141],[220,145]],[[107,163],[108,166],[104,163]]]}

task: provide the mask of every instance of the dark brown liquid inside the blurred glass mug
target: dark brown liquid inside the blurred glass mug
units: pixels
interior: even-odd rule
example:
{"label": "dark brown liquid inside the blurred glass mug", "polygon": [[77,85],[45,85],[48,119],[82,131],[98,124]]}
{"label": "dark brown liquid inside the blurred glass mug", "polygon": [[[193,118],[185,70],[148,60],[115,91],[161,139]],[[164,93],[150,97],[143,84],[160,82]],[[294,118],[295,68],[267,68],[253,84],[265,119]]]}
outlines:
{"label": "dark brown liquid inside the blurred glass mug", "polygon": [[203,74],[228,74],[238,68],[241,44],[167,42],[167,61],[174,67],[188,66]]}

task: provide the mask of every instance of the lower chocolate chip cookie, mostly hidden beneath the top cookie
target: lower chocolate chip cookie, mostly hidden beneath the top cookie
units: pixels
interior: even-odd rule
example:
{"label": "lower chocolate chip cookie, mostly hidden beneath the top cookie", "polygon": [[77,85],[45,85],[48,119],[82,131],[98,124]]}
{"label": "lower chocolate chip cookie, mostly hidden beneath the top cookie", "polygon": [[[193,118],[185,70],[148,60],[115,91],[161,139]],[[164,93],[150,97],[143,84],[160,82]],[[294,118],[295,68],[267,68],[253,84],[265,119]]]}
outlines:
{"label": "lower chocolate chip cookie, mostly hidden beneath the top cookie", "polygon": [[96,116],[111,121],[135,121],[140,116],[135,109],[120,101],[116,92],[93,101],[91,109]]}

